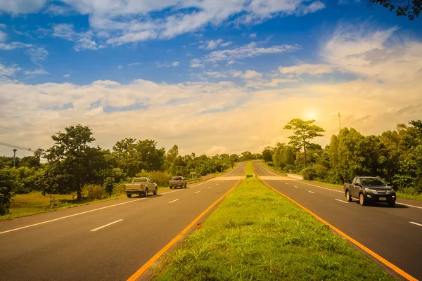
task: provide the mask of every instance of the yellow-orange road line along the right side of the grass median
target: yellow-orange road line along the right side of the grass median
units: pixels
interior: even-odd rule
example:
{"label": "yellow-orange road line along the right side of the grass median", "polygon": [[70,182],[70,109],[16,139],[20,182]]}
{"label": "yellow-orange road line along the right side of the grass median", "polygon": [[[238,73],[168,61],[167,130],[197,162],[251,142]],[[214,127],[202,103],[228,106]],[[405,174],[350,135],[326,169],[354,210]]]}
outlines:
{"label": "yellow-orange road line along the right side of the grass median", "polygon": [[[252,165],[253,167],[253,165]],[[255,171],[255,168],[254,168]],[[256,174],[256,173],[255,173]],[[257,175],[257,178],[264,183],[264,185],[267,185],[267,187],[271,188],[271,190],[274,190],[275,192],[283,195],[284,197],[286,197],[288,200],[290,200],[291,202],[295,203],[296,205],[298,205],[300,208],[304,209],[305,211],[307,211],[309,214],[311,214],[312,216],[314,216],[314,218],[316,218],[317,220],[321,221],[321,223],[326,224],[327,226],[329,226],[332,230],[334,230],[336,233],[338,233],[339,235],[345,237],[347,240],[349,240],[350,242],[352,242],[353,244],[355,244],[357,247],[359,247],[360,249],[366,251],[366,253],[370,254],[371,256],[373,256],[375,259],[377,259],[378,261],[381,261],[381,263],[385,264],[385,266],[388,266],[389,268],[391,268],[392,270],[394,270],[396,273],[398,273],[399,275],[402,275],[404,278],[406,278],[407,280],[411,280],[411,281],[418,281],[415,277],[411,276],[409,273],[405,272],[404,270],[398,268],[397,266],[395,266],[394,264],[390,263],[390,261],[387,261],[386,259],[384,259],[382,256],[376,254],[376,252],[372,251],[371,249],[369,249],[368,247],[365,247],[363,244],[357,242],[356,240],[354,240],[352,237],[350,237],[349,235],[343,233],[343,231],[339,230],[338,228],[335,228],[334,226],[332,226],[330,223],[328,223],[327,221],[324,221],[324,219],[320,218],[319,216],[317,216],[316,214],[314,214],[312,211],[309,211],[307,208],[303,207],[301,204],[299,204],[298,202],[296,202],[295,200],[291,199],[290,197],[288,197],[287,195],[284,195],[283,193],[279,192],[279,190],[276,190],[275,188],[273,188],[271,185],[269,185],[268,183],[266,183],[265,181],[263,181],[260,176]]]}

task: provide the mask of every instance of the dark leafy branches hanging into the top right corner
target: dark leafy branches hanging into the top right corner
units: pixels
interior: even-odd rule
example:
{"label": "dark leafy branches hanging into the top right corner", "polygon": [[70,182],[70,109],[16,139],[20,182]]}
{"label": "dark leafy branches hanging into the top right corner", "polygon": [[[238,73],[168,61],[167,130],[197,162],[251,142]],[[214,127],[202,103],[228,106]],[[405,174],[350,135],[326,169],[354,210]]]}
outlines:
{"label": "dark leafy branches hanging into the top right corner", "polygon": [[381,5],[390,11],[395,10],[397,16],[407,16],[409,20],[419,18],[422,11],[421,0],[369,0],[369,4]]}

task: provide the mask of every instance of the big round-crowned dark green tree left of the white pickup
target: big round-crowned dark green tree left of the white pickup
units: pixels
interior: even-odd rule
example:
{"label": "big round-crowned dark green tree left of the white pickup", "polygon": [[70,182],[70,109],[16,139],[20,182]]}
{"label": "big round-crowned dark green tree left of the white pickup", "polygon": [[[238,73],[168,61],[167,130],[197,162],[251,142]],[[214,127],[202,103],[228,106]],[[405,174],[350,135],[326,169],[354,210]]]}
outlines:
{"label": "big round-crowned dark green tree left of the white pickup", "polygon": [[106,169],[106,151],[91,148],[95,141],[91,129],[78,124],[65,128],[52,136],[55,144],[47,150],[51,174],[60,192],[76,192],[82,199],[82,187],[88,183],[101,183],[101,169]]}

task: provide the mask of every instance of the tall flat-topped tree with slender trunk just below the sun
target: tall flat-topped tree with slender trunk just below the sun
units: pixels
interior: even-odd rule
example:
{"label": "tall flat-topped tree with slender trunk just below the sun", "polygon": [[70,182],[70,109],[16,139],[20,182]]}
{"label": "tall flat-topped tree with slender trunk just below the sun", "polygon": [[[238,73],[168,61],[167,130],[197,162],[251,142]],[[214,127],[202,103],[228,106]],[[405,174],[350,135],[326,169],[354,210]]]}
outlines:
{"label": "tall flat-topped tree with slender trunk just below the sun", "polygon": [[317,136],[324,136],[321,134],[325,130],[319,126],[314,125],[315,120],[304,121],[302,119],[293,119],[283,129],[293,130],[293,136],[290,138],[289,144],[295,148],[303,148],[305,157],[305,168],[307,164],[306,149],[311,145],[309,141],[313,140]]}

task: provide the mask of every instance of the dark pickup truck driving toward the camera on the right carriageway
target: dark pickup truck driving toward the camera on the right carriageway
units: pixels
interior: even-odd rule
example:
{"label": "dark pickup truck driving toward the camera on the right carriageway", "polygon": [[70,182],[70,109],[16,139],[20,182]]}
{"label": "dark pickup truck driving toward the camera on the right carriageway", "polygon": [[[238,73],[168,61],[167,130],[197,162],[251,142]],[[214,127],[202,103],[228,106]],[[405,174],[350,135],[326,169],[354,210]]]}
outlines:
{"label": "dark pickup truck driving toward the camera on the right carriageway", "polygon": [[378,177],[355,176],[352,183],[345,183],[343,188],[348,202],[357,198],[362,206],[368,202],[386,202],[394,207],[397,199],[395,190]]}

